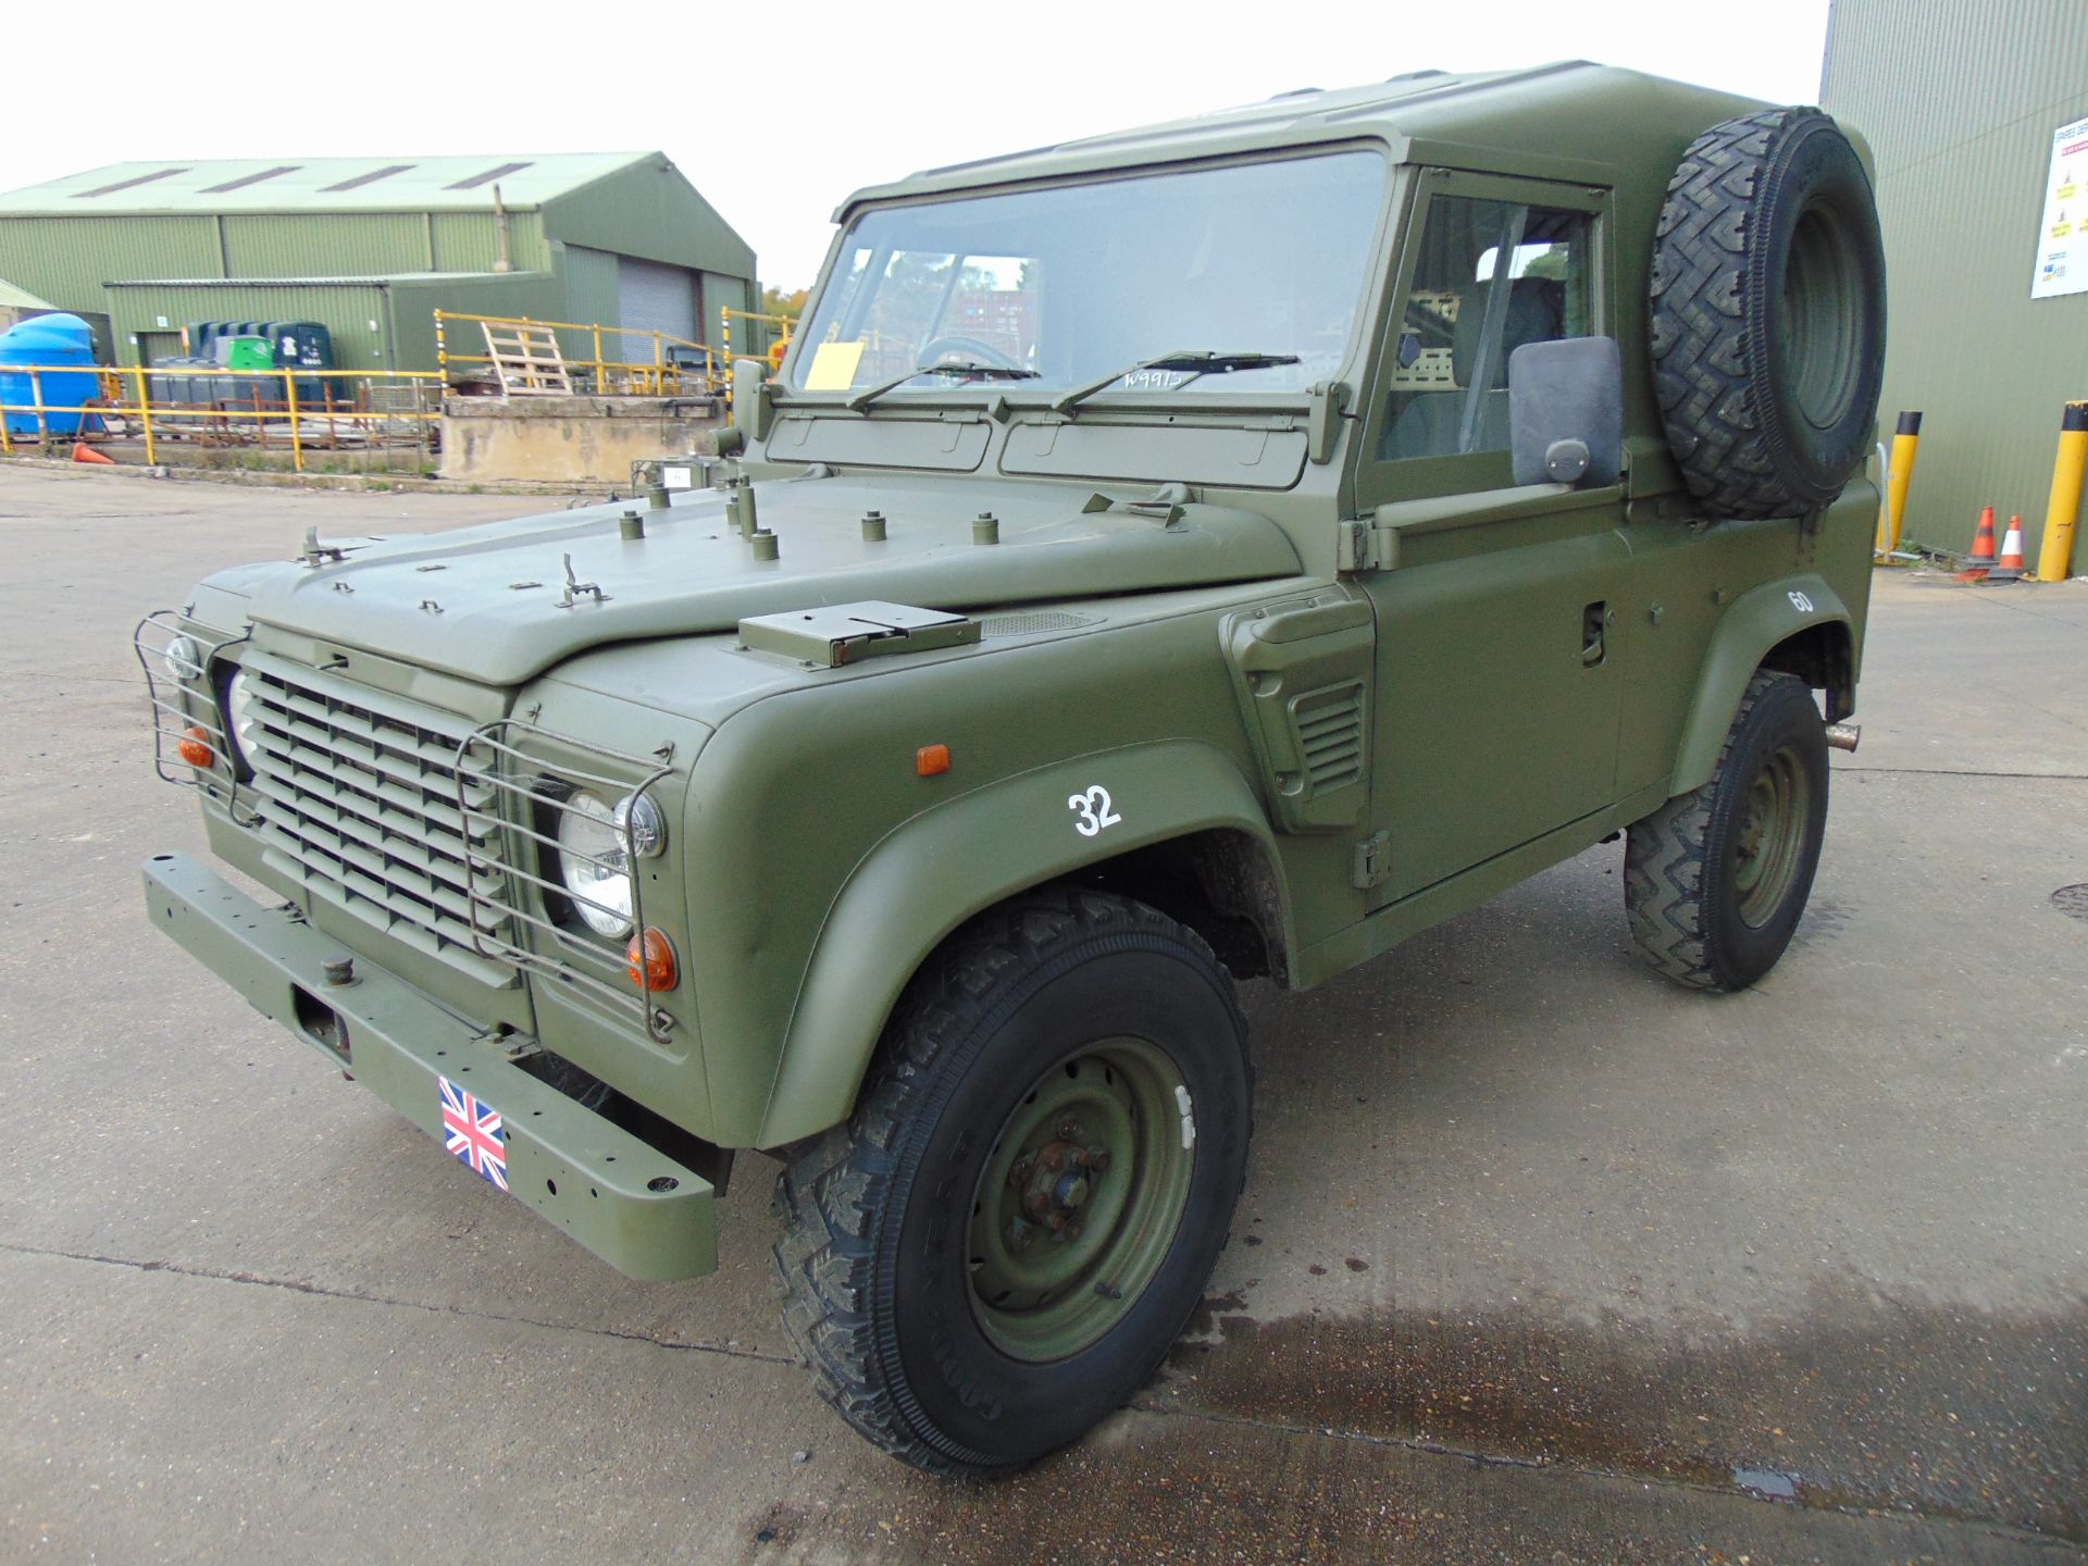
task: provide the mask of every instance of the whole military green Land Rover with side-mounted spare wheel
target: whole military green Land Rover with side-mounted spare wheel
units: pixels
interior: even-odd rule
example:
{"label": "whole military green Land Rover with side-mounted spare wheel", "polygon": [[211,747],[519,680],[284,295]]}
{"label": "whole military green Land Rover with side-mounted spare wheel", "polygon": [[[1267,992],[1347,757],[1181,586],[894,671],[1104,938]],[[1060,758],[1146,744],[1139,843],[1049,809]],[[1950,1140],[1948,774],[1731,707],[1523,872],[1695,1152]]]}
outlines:
{"label": "whole military green Land Rover with side-mounted spare wheel", "polygon": [[1023,1464],[1226,1244],[1236,981],[1620,831],[1656,969],[1777,963],[1881,349],[1829,117],[1593,65],[867,190],[706,484],[150,616],[161,770],[276,902],[161,854],[146,906],[637,1278],[708,1272],[775,1155],[818,1391]]}

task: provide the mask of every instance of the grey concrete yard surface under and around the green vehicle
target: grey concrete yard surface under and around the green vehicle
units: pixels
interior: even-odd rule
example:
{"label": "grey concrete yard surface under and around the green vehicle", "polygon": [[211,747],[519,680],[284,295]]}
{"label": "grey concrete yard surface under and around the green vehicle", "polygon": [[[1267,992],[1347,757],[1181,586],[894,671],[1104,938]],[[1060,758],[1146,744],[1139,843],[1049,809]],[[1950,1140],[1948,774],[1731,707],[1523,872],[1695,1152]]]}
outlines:
{"label": "grey concrete yard surface under and around the green vehicle", "polygon": [[1249,990],[1207,1311],[1015,1480],[633,1284],[140,917],[200,852],[127,633],[213,566],[516,501],[0,472],[0,1560],[2017,1562],[2088,1541],[2088,589],[1881,574],[1865,743],[1756,990],[1637,967],[1618,846]]}

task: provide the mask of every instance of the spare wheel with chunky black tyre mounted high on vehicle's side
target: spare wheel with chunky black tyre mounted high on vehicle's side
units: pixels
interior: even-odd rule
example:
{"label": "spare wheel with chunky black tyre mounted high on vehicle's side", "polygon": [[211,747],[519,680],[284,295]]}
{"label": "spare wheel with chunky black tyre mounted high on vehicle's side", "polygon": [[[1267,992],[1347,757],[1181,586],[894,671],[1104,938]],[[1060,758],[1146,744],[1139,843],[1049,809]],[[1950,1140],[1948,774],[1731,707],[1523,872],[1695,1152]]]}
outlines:
{"label": "spare wheel with chunky black tyre mounted high on vehicle's side", "polygon": [[1714,516],[1810,516],[1862,464],[1885,363],[1885,248],[1856,148],[1819,109],[1712,125],[1654,238],[1654,390]]}

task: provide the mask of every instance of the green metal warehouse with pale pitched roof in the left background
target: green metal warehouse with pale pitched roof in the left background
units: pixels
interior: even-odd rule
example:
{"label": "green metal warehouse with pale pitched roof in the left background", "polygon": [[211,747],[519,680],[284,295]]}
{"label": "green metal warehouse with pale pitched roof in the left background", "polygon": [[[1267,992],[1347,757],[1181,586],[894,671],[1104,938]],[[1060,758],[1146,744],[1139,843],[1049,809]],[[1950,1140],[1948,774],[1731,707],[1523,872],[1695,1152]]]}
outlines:
{"label": "green metal warehouse with pale pitched roof in the left background", "polygon": [[434,370],[436,309],[716,345],[758,307],[754,251],[660,152],[115,163],[0,194],[0,278],[106,317],[117,363],[186,322],[324,322],[342,370]]}

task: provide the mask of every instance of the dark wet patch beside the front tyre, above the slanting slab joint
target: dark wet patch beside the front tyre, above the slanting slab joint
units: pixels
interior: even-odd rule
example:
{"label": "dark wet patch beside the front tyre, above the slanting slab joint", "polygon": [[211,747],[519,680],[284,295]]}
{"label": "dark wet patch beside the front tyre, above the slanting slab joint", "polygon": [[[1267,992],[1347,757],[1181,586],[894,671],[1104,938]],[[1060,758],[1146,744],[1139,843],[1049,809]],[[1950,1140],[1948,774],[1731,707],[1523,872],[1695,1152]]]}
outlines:
{"label": "dark wet patch beside the front tyre, above the slanting slab joint", "polygon": [[2088,1541],[2088,1301],[2004,1320],[1844,1282],[1796,1324],[1691,1334],[1622,1318],[1211,1320],[1142,1407]]}

